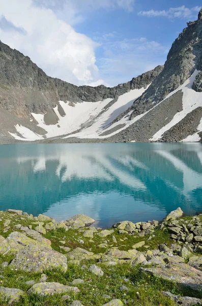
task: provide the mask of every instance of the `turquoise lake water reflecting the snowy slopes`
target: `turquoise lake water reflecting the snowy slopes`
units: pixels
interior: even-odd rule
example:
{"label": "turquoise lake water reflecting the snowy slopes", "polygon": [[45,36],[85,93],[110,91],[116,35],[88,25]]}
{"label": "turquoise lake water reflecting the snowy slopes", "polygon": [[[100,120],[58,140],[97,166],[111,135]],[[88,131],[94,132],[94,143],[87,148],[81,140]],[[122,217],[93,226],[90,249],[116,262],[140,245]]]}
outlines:
{"label": "turquoise lake water reflecting the snowy slopes", "polygon": [[202,211],[202,144],[13,144],[0,146],[0,210],[96,225]]}

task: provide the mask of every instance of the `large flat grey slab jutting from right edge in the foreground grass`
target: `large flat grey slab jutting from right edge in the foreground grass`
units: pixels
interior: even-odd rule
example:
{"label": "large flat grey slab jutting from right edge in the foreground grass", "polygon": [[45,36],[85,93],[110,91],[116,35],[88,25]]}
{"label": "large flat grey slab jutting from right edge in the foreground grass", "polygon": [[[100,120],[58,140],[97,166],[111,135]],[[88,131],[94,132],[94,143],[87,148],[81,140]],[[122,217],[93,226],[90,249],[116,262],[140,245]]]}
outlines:
{"label": "large flat grey slab jutting from right edge in the foreground grass", "polygon": [[196,292],[202,290],[202,272],[188,264],[178,263],[159,265],[150,268],[140,268],[141,272],[152,273],[156,277],[173,281],[185,289],[192,289]]}

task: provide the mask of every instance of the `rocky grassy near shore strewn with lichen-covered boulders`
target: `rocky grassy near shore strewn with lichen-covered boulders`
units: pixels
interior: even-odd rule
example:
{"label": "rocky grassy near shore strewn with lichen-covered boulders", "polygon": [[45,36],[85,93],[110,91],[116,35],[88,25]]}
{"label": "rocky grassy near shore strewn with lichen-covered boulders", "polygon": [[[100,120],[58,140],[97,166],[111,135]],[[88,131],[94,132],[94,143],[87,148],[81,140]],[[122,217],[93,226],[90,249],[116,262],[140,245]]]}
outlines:
{"label": "rocky grassy near shore strewn with lichen-covered boulders", "polygon": [[202,215],[94,222],[0,212],[0,305],[202,305]]}

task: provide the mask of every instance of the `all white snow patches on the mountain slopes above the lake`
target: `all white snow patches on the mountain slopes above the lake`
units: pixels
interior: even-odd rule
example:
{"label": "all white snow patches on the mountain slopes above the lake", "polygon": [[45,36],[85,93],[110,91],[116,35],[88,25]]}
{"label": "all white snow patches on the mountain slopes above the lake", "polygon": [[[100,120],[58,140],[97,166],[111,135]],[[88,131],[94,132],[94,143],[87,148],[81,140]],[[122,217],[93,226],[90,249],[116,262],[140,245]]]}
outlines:
{"label": "all white snow patches on the mountain slopes above the lake", "polygon": [[[71,101],[59,101],[60,106],[63,108],[66,115],[61,116],[56,106],[53,111],[59,118],[56,124],[47,125],[44,122],[44,115],[32,113],[32,117],[38,122],[38,126],[44,129],[47,133],[44,136],[38,135],[25,126],[17,124],[15,126],[17,133],[10,133],[15,139],[22,141],[35,141],[44,138],[61,137],[70,138],[77,137],[80,139],[103,139],[113,136],[128,126],[148,114],[155,109],[159,104],[165,101],[168,97],[174,95],[176,92],[182,90],[183,92],[183,110],[175,114],[170,122],[165,124],[150,141],[157,141],[161,139],[163,134],[168,131],[172,126],[176,125],[187,114],[192,112],[198,107],[202,107],[202,92],[196,92],[192,89],[192,84],[199,71],[195,70],[189,79],[175,91],[169,93],[160,103],[155,105],[149,111],[134,117],[129,120],[132,111],[128,111],[127,115],[123,116],[120,120],[113,122],[120,114],[127,111],[133,102],[142,95],[147,88],[134,89],[127,92],[117,99],[107,98],[98,102],[83,102],[73,104]],[[73,105],[73,106],[72,106]],[[32,119],[32,118],[31,118]],[[200,140],[198,135],[202,131],[202,119],[197,127],[198,132],[194,135],[189,135],[183,139],[183,142],[197,142]],[[106,133],[107,132],[107,133]],[[104,136],[102,135],[103,133]],[[135,139],[135,135],[134,135]],[[135,142],[135,140],[133,141]]]}

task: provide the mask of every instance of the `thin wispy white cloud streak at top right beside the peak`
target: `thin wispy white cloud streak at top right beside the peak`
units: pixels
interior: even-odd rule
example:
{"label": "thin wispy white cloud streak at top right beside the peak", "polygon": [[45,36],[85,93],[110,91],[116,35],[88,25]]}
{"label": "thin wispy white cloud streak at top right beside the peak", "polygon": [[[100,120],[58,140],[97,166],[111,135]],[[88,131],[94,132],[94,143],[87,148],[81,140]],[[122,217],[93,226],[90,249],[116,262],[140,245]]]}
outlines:
{"label": "thin wispy white cloud streak at top right beside the peak", "polygon": [[168,10],[162,11],[140,11],[139,16],[146,17],[167,17],[167,18],[195,18],[201,7],[195,6],[191,9],[186,8],[184,5],[177,8],[169,8]]}

